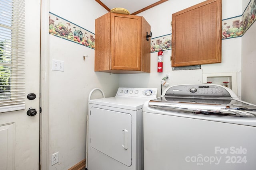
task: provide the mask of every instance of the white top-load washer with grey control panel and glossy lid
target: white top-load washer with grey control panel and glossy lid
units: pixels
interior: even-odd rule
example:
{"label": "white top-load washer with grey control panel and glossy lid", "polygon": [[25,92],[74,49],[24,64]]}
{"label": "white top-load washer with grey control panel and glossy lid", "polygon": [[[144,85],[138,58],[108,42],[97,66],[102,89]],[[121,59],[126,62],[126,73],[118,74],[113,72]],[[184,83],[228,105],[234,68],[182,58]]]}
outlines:
{"label": "white top-load washer with grey control panel and glossy lid", "polygon": [[256,169],[256,106],[229,88],[171,86],[143,121],[145,170]]}

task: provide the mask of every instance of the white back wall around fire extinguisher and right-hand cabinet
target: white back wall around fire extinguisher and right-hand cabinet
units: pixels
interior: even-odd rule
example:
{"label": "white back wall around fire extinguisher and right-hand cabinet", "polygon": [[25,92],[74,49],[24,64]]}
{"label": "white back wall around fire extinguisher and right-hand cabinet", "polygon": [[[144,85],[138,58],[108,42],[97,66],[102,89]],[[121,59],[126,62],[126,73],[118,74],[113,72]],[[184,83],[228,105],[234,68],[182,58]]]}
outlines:
{"label": "white back wall around fire extinguisher and right-hand cabinet", "polygon": [[[150,10],[138,14],[143,16],[151,25],[152,38],[170,34],[172,14],[203,2],[204,0],[169,0]],[[222,0],[222,19],[239,16],[242,14],[240,0]],[[188,28],[189,31],[189,28]],[[201,70],[172,71],[171,50],[164,51],[163,72],[157,72],[157,53],[151,53],[150,74],[120,74],[120,86],[139,86],[158,88],[161,92],[161,80],[165,73],[170,71],[171,80],[166,80],[170,85],[203,83],[203,74],[235,72],[238,75],[238,96],[241,96],[240,71],[241,71],[241,38],[222,40],[222,63],[201,65]],[[132,81],[131,81],[132,80]],[[169,85],[169,86],[170,86]],[[163,90],[165,87],[163,87]]]}

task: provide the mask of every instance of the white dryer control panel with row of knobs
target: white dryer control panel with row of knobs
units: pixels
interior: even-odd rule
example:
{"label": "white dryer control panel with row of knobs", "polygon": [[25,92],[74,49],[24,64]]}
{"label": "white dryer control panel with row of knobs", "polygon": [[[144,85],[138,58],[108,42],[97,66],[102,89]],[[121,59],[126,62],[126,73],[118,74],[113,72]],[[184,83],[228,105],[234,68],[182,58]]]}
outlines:
{"label": "white dryer control panel with row of knobs", "polygon": [[116,96],[156,98],[157,88],[118,88]]}

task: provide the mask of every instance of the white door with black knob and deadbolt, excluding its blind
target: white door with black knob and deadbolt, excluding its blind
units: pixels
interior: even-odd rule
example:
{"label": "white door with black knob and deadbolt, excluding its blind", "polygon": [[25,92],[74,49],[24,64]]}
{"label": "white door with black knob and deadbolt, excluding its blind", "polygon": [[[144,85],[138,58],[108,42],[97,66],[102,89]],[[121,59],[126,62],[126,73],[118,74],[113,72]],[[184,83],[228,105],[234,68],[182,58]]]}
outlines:
{"label": "white door with black knob and deadbolt, excluding its blind", "polygon": [[[25,109],[0,113],[0,170],[39,167],[40,3],[25,0]],[[36,94],[34,100],[27,99],[30,93]],[[28,116],[29,108],[37,114]]]}

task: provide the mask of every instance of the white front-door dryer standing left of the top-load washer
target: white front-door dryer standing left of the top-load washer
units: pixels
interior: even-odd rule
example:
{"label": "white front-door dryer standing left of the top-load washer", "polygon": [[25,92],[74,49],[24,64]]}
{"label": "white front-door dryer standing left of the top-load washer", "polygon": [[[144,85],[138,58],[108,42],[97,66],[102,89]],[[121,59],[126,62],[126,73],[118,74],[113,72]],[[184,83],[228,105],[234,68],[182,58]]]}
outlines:
{"label": "white front-door dryer standing left of the top-load washer", "polygon": [[157,88],[118,88],[115,97],[89,100],[88,170],[143,170],[144,102]]}

